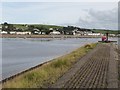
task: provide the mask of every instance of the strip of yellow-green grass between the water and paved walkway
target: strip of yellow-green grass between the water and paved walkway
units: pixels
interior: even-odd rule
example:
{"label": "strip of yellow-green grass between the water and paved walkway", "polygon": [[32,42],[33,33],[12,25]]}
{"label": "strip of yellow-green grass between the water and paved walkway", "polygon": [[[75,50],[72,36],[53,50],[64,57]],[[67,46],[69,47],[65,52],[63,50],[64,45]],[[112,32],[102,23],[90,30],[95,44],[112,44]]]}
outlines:
{"label": "strip of yellow-green grass between the water and paved walkway", "polygon": [[37,88],[55,83],[82,56],[97,44],[87,44],[77,50],[56,58],[39,68],[24,73],[3,84],[3,88]]}

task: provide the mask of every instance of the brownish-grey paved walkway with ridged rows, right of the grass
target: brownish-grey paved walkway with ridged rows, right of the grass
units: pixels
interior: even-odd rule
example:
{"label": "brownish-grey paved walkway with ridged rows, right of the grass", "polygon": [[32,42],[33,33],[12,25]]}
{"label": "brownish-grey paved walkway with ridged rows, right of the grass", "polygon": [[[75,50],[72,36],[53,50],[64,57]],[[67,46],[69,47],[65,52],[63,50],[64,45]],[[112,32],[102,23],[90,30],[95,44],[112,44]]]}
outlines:
{"label": "brownish-grey paved walkway with ridged rows, right of the grass", "polygon": [[118,88],[115,51],[99,44],[65,73],[52,88]]}

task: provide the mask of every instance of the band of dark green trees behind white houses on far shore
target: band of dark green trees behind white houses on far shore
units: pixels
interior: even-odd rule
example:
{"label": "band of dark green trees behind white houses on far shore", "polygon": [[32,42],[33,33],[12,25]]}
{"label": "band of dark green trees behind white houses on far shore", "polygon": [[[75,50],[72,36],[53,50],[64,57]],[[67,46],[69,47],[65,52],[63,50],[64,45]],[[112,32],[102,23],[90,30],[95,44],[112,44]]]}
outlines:
{"label": "band of dark green trees behind white houses on far shore", "polygon": [[[49,26],[49,25],[48,25]],[[50,34],[52,30],[50,28],[53,28],[53,30],[59,31],[61,34],[73,34],[73,30],[77,29],[78,31],[91,31],[91,29],[85,29],[85,28],[79,28],[75,26],[67,26],[67,27],[62,27],[62,26],[45,26],[45,25],[27,25],[27,24],[22,24],[21,27],[25,28],[19,28],[15,26],[14,24],[8,24],[7,22],[4,22],[2,24],[2,30],[7,31],[8,33],[10,31],[30,31],[32,34],[34,34],[35,29],[38,29],[39,32],[45,32],[45,34]]]}

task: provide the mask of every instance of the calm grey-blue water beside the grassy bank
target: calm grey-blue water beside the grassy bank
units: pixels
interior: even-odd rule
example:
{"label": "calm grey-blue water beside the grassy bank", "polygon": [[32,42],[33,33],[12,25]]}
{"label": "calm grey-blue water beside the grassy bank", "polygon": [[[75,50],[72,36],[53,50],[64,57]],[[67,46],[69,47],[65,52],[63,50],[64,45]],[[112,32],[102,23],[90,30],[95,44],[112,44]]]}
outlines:
{"label": "calm grey-blue water beside the grassy bank", "polygon": [[[83,46],[101,40],[100,38],[79,39],[2,39],[2,78],[62,56]],[[1,63],[1,62],[0,62]]]}

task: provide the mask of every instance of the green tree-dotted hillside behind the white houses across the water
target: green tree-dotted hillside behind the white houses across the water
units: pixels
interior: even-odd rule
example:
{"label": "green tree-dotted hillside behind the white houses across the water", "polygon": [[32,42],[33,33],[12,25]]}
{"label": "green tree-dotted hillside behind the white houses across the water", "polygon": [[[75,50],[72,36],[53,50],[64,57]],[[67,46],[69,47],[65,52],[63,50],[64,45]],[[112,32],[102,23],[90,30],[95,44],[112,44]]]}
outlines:
{"label": "green tree-dotted hillside behind the white houses across the water", "polygon": [[[7,28],[6,28],[7,26]],[[10,33],[10,31],[30,31],[32,34],[35,34],[35,32],[44,32],[45,34],[50,34],[52,30],[57,30],[61,34],[69,34],[73,35],[77,32],[83,32],[83,33],[109,33],[109,34],[120,34],[120,30],[103,30],[103,29],[86,29],[86,28],[80,28],[75,26],[56,26],[56,25],[43,25],[43,24],[8,24],[7,22],[2,24],[2,30],[7,31]]]}

